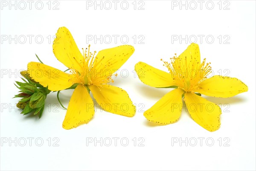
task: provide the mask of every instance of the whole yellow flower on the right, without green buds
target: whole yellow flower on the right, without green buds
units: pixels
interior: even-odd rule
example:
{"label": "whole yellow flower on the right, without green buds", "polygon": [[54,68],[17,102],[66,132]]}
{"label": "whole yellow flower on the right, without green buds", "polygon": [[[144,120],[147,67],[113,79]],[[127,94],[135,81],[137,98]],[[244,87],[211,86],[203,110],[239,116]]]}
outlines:
{"label": "whole yellow flower on the right, without green buds", "polygon": [[248,87],[237,78],[220,75],[207,78],[211,73],[210,63],[206,63],[205,59],[202,63],[200,61],[199,46],[192,43],[180,56],[171,58],[171,63],[164,62],[169,73],[143,62],[135,65],[144,84],[157,88],[176,88],[145,111],[146,119],[161,125],[176,122],[180,118],[184,96],[192,119],[209,131],[218,130],[221,109],[217,104],[202,98],[201,94],[226,98],[246,92]]}

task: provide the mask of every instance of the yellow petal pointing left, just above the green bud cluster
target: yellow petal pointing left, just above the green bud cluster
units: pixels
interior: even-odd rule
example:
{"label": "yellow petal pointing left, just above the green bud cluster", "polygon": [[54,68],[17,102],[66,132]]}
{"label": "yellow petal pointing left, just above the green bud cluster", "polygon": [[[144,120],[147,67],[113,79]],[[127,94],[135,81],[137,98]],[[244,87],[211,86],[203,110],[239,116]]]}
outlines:
{"label": "yellow petal pointing left, just above the green bud cluster", "polygon": [[28,72],[33,80],[44,87],[48,86],[48,89],[52,91],[64,90],[73,85],[68,81],[72,75],[45,64],[29,62]]}

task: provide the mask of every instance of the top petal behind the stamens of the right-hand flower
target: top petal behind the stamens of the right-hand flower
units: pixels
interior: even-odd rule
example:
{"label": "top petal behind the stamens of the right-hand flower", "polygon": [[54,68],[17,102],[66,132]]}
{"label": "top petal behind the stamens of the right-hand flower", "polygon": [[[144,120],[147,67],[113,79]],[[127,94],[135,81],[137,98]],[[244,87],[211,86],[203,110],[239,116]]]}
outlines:
{"label": "top petal behind the stamens of the right-hand flower", "polygon": [[[197,62],[201,64],[201,58],[200,58],[200,50],[199,46],[196,43],[191,43],[186,50],[182,54],[178,56],[182,61],[185,62],[185,58],[195,58]],[[179,62],[176,60],[175,62]],[[185,63],[184,63],[185,64]]]}

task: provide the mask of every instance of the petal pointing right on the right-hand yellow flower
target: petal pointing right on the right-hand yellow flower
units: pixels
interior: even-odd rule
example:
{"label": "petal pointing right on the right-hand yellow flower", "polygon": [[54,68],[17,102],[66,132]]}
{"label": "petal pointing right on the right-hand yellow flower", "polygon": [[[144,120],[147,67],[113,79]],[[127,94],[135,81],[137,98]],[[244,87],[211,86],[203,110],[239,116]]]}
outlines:
{"label": "petal pointing right on the right-hand yellow flower", "polygon": [[215,75],[202,81],[196,91],[207,96],[232,97],[248,91],[248,87],[237,78]]}

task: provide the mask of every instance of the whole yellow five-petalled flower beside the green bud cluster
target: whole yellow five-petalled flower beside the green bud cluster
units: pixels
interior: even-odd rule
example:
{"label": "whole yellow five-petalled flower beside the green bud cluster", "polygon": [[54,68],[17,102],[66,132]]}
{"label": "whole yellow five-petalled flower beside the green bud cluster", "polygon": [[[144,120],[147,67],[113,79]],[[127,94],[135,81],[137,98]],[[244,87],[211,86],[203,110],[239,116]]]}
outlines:
{"label": "whole yellow five-petalled flower beside the green bud cluster", "polygon": [[[123,116],[134,116],[135,106],[125,90],[108,83],[113,82],[111,76],[133,54],[134,47],[125,45],[98,52],[83,49],[83,54],[76,46],[70,31],[61,27],[53,42],[55,57],[70,69],[70,74],[38,62],[30,62],[30,77],[49,90],[64,90],[77,85],[63,122],[64,129],[75,128],[87,123],[94,115],[93,100],[106,111]],[[95,56],[96,55],[96,56]],[[115,75],[116,76],[116,75]]]}

